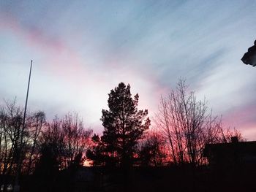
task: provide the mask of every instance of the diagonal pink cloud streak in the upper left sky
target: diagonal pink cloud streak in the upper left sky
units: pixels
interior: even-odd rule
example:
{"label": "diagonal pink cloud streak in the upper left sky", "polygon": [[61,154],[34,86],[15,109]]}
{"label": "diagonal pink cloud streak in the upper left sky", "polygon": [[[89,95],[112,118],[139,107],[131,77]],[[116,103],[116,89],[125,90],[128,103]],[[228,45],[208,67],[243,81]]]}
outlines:
{"label": "diagonal pink cloud streak in the upper left sky", "polygon": [[2,28],[2,31],[10,31],[15,36],[23,39],[28,47],[33,47],[40,53],[45,53],[47,62],[44,66],[50,68],[50,71],[53,70],[54,74],[62,74],[63,72],[69,74],[72,69],[75,69],[76,72],[84,69],[80,57],[69,46],[65,45],[59,37],[50,36],[39,28],[27,28],[18,23],[15,18],[6,15],[1,15],[0,28]]}

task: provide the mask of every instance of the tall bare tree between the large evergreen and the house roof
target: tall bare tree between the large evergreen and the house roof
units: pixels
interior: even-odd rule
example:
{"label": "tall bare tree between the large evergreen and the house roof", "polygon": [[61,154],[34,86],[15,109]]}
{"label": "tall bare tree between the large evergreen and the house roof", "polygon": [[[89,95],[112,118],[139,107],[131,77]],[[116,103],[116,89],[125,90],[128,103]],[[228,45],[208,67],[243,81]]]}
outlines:
{"label": "tall bare tree between the large evergreen and the house roof", "polygon": [[198,101],[195,93],[188,91],[184,79],[162,97],[156,123],[168,139],[175,164],[202,164],[204,145],[222,138],[221,119],[208,112],[206,99]]}

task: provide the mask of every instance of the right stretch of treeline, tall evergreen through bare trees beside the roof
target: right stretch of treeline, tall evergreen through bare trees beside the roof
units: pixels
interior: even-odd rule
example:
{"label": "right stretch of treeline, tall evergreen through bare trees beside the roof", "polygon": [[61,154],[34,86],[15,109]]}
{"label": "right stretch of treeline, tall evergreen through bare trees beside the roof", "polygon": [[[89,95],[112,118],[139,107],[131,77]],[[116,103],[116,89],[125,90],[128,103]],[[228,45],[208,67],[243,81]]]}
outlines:
{"label": "right stretch of treeline, tall evergreen through bare trees beside the roof", "polygon": [[186,80],[163,97],[154,126],[149,130],[147,110],[138,110],[138,94],[132,98],[130,86],[121,82],[109,93],[109,110],[102,110],[102,137],[94,134],[87,157],[94,166],[167,166],[206,164],[206,143],[230,142],[241,138],[234,129],[222,127],[222,119],[212,115],[206,100],[189,92]]}

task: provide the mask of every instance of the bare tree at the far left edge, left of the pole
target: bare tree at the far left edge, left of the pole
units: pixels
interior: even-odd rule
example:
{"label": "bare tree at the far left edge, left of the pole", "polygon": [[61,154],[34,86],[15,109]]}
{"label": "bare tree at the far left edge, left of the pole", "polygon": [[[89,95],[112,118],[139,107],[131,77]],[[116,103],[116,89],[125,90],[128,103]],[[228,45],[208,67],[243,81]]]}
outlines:
{"label": "bare tree at the far left edge, left of the pole", "polygon": [[3,186],[3,190],[7,190],[7,177],[14,174],[15,167],[18,164],[18,158],[23,157],[20,154],[20,148],[23,145],[20,144],[20,135],[23,134],[22,122],[23,122],[23,110],[20,107],[16,107],[15,100],[8,103],[0,110],[0,171],[1,181],[0,185]]}

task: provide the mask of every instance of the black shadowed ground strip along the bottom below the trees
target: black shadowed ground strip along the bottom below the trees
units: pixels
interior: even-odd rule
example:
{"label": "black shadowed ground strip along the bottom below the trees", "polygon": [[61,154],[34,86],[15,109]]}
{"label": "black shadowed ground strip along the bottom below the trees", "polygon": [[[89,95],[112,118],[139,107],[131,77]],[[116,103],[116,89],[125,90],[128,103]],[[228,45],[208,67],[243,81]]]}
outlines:
{"label": "black shadowed ground strip along the bottom below the trees", "polygon": [[256,191],[256,167],[243,169],[206,166],[80,167],[55,177],[23,177],[21,191]]}

